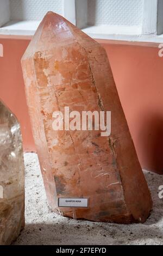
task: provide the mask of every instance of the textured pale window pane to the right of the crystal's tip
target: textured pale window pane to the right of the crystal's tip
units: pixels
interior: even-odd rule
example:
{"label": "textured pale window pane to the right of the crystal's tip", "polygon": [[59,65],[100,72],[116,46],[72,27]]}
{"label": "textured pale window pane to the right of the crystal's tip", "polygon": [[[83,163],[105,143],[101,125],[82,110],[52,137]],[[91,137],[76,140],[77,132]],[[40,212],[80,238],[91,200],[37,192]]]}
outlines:
{"label": "textured pale window pane to the right of the crystal's tip", "polygon": [[143,0],[88,0],[87,2],[89,25],[141,26]]}

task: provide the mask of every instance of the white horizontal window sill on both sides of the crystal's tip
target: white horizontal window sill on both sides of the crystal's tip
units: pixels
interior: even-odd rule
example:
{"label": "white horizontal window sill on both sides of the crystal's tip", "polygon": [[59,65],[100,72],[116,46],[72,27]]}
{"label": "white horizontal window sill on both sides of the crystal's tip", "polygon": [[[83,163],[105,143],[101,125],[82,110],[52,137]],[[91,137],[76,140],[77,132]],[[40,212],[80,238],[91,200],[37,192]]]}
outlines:
{"label": "white horizontal window sill on both sides of the crystal's tip", "polygon": [[[0,38],[2,36],[12,37],[33,36],[40,21],[10,21],[0,28]],[[122,27],[122,26],[90,26],[82,29],[87,35],[95,39],[120,40],[129,42],[163,42],[163,34],[142,35],[139,27]]]}

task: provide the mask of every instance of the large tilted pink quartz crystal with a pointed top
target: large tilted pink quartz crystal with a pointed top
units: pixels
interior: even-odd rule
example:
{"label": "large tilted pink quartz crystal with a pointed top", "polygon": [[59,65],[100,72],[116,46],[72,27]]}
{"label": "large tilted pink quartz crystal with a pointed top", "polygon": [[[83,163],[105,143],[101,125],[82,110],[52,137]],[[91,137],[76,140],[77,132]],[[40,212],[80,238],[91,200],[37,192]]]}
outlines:
{"label": "large tilted pink quartz crystal with a pointed top", "polygon": [[[47,13],[22,58],[27,103],[48,203],[69,217],[145,222],[152,199],[136,156],[104,48]],[[111,135],[54,131],[53,112],[111,111]],[[58,197],[89,208],[58,208]]]}

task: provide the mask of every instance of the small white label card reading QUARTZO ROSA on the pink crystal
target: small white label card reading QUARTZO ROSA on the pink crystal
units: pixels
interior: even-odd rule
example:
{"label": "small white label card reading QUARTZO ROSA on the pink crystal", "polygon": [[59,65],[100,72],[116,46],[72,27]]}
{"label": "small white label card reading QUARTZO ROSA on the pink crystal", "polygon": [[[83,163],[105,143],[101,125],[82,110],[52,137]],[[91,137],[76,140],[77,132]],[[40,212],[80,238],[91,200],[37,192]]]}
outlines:
{"label": "small white label card reading QUARTZO ROSA on the pink crystal", "polygon": [[87,198],[58,198],[58,206],[87,208]]}

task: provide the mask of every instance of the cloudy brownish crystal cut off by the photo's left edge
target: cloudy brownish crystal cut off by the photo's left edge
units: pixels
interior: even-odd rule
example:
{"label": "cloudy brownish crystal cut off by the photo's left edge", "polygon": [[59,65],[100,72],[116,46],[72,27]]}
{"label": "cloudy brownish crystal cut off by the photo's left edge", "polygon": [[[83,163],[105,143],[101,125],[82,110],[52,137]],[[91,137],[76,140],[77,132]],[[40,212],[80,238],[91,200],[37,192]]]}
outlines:
{"label": "cloudy brownish crystal cut off by the photo's left edge", "polygon": [[0,245],[24,227],[24,161],[20,125],[0,102]]}

